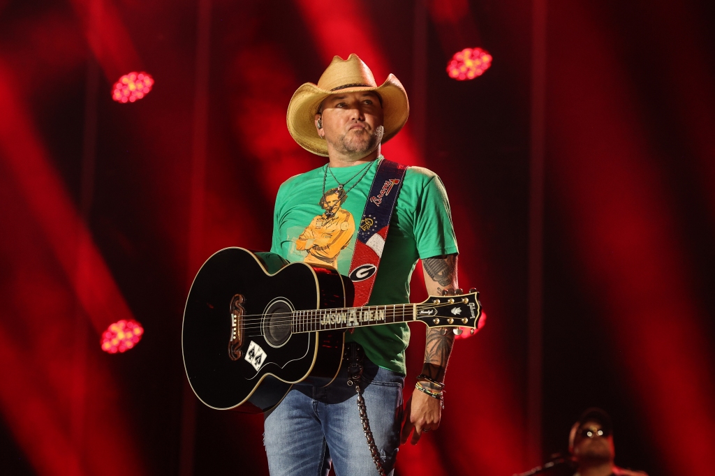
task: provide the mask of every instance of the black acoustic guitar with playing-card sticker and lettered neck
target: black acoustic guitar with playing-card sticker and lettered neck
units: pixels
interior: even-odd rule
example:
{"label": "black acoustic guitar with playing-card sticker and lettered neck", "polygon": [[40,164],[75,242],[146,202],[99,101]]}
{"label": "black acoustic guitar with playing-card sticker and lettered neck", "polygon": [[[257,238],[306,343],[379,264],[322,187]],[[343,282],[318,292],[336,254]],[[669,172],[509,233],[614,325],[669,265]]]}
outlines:
{"label": "black acoustic guitar with playing-card sticker and lettered neck", "polygon": [[420,304],[346,307],[352,282],[334,269],[226,248],[204,263],[189,291],[184,367],[205,405],[265,412],[296,382],[327,385],[335,379],[345,329],[421,321],[474,332],[478,297],[470,292]]}

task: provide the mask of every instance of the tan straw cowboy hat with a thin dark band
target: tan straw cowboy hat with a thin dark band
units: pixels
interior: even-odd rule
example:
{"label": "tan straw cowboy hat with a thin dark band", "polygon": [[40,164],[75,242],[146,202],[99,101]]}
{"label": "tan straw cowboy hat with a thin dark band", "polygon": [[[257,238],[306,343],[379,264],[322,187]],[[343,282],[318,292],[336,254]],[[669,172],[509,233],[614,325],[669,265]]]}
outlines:
{"label": "tan straw cowboy hat with a thin dark band", "polygon": [[373,72],[357,54],[342,59],[335,56],[320,76],[317,84],[305,83],[293,94],[288,104],[286,122],[288,132],[300,147],[313,154],[327,157],[327,144],[315,130],[315,113],[320,103],[337,92],[375,91],[383,99],[383,143],[395,137],[407,122],[410,103],[402,83],[390,74],[378,86]]}

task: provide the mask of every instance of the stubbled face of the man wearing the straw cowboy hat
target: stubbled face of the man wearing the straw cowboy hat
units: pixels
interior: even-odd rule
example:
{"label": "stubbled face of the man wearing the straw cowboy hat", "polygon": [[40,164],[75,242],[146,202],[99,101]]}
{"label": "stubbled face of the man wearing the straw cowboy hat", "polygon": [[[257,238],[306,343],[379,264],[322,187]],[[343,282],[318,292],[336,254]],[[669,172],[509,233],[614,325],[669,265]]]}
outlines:
{"label": "stubbled face of the man wearing the straw cowboy hat", "polygon": [[372,91],[346,92],[322,101],[322,130],[330,147],[340,154],[362,158],[383,140],[383,106]]}

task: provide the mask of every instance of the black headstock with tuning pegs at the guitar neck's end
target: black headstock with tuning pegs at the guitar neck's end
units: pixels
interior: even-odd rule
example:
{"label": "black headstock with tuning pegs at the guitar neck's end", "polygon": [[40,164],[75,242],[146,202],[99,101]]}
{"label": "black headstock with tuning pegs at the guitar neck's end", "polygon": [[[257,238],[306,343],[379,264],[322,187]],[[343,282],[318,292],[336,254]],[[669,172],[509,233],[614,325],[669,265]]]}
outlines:
{"label": "black headstock with tuning pegs at the guitar neck's end", "polygon": [[430,296],[417,304],[417,320],[428,327],[471,327],[470,332],[474,333],[481,314],[482,305],[475,290],[466,294]]}

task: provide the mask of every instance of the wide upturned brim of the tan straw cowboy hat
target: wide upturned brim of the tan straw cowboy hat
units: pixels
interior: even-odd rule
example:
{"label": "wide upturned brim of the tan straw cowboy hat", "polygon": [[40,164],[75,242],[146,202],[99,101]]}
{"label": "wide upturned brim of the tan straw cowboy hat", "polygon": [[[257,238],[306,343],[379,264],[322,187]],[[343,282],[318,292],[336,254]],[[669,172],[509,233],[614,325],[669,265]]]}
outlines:
{"label": "wide upturned brim of the tan straw cowboy hat", "polygon": [[327,157],[327,144],[315,129],[315,113],[320,103],[332,94],[346,92],[375,91],[383,99],[383,144],[395,137],[403,128],[410,115],[410,103],[402,83],[390,74],[385,82],[377,87],[355,86],[337,91],[319,88],[316,84],[305,83],[300,86],[288,104],[286,124],[288,132],[300,147],[313,154]]}

